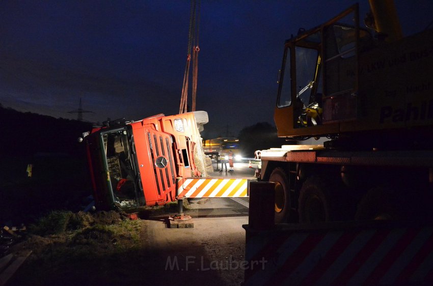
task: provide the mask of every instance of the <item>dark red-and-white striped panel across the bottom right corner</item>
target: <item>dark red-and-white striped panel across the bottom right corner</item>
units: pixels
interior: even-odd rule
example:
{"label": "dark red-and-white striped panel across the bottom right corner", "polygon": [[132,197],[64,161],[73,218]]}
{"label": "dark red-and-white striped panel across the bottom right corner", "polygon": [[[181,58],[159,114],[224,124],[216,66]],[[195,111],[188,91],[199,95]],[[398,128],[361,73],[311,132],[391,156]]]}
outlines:
{"label": "dark red-and-white striped panel across the bottom right corner", "polygon": [[432,227],[258,235],[246,255],[246,285],[433,284]]}

